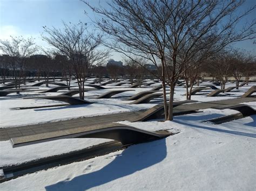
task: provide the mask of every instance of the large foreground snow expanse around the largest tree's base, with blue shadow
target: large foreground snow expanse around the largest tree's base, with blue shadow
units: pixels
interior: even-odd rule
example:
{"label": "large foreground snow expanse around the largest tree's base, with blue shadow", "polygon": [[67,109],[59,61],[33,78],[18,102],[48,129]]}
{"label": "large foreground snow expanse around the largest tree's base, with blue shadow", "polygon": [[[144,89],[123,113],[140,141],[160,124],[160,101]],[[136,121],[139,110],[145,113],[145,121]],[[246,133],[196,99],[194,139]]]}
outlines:
{"label": "large foreground snow expanse around the largest tree's base, with blue shadow", "polygon": [[[208,115],[208,111],[204,115]],[[195,118],[194,117],[198,117]],[[126,124],[180,133],[124,151],[24,175],[1,190],[255,190],[256,116],[221,125],[201,113]],[[253,124],[252,124],[253,125]],[[253,137],[254,136],[254,137]],[[28,183],[29,182],[29,183]]]}

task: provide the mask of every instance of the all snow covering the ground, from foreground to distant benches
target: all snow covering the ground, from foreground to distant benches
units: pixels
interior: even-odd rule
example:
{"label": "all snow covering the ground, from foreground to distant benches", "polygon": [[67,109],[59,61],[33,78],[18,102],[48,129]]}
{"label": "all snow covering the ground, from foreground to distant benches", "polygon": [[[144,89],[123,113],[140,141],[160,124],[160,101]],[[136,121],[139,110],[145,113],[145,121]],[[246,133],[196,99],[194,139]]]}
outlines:
{"label": "all snow covering the ground, from foreground to distant benches", "polygon": [[[255,83],[250,84],[253,85]],[[136,91],[127,91],[117,96],[134,95],[151,88],[134,88]],[[195,95],[192,100],[204,102],[236,98],[249,88],[242,87],[239,92],[231,92],[229,96]],[[104,91],[89,91],[88,95],[99,95]],[[53,94],[59,93],[49,95]],[[185,100],[183,94],[185,88],[177,87],[174,99]],[[92,98],[90,100],[97,101]],[[59,102],[23,100],[11,96],[9,100],[0,98],[0,128],[133,111],[156,104],[128,105],[126,103],[130,101],[123,101],[122,98],[98,101],[84,107],[10,110]],[[256,108],[256,102],[244,104]],[[203,121],[237,111],[201,111],[176,116],[172,122],[118,122],[150,131],[169,130],[179,133],[101,157],[27,174],[1,183],[0,190],[256,190],[256,115],[214,125]],[[17,119],[16,124],[11,122],[14,117]],[[17,148],[12,148],[9,141],[4,141],[0,142],[0,166],[80,150],[107,141],[110,140],[63,139]]]}

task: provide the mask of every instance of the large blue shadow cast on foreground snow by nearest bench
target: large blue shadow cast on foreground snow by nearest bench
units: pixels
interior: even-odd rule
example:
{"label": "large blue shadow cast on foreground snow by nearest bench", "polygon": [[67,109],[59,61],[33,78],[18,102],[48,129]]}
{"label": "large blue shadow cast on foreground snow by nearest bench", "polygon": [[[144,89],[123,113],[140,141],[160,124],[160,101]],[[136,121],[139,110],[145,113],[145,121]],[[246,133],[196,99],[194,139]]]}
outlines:
{"label": "large blue shadow cast on foreground snow by nearest bench", "polygon": [[[87,190],[107,182],[133,174],[153,166],[166,157],[166,140],[160,139],[128,147],[121,154],[98,171],[76,176],[54,185],[46,186],[46,190]],[[107,160],[111,157],[106,157]],[[93,165],[93,163],[92,163]],[[86,166],[84,166],[86,169]]]}

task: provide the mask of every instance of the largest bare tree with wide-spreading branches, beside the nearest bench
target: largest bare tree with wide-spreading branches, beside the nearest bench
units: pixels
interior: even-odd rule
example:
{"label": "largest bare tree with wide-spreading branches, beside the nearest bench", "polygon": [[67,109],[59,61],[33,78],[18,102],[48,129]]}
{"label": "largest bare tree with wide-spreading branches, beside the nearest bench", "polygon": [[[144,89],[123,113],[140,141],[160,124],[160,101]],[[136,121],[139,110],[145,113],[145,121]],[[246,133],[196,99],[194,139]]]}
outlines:
{"label": "largest bare tree with wide-spreading branches, beside the nearest bench", "polygon": [[[244,1],[112,0],[107,8],[83,2],[102,16],[96,26],[116,42],[109,41],[106,46],[130,58],[141,56],[156,67],[160,63],[161,73],[155,75],[162,81],[166,120],[173,118],[174,88],[184,63],[208,45],[204,39],[212,36],[213,41],[218,41],[215,47],[223,48],[255,38],[255,20],[242,30],[234,29],[255,9],[239,14],[237,10]],[[170,87],[169,105],[165,84]]]}

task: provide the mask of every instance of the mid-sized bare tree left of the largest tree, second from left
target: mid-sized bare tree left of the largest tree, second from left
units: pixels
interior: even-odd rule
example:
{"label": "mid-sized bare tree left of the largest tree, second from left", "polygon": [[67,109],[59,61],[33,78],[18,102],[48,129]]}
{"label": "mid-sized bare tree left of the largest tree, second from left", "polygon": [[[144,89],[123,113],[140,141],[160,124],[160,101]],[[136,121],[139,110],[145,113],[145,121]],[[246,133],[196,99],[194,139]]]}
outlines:
{"label": "mid-sized bare tree left of the largest tree, second from left", "polygon": [[78,82],[79,97],[84,99],[84,82],[92,65],[104,62],[109,52],[98,49],[103,43],[103,36],[88,33],[83,23],[65,24],[64,29],[52,29],[44,26],[44,32],[48,36],[42,36],[50,45],[60,53],[68,56]]}

